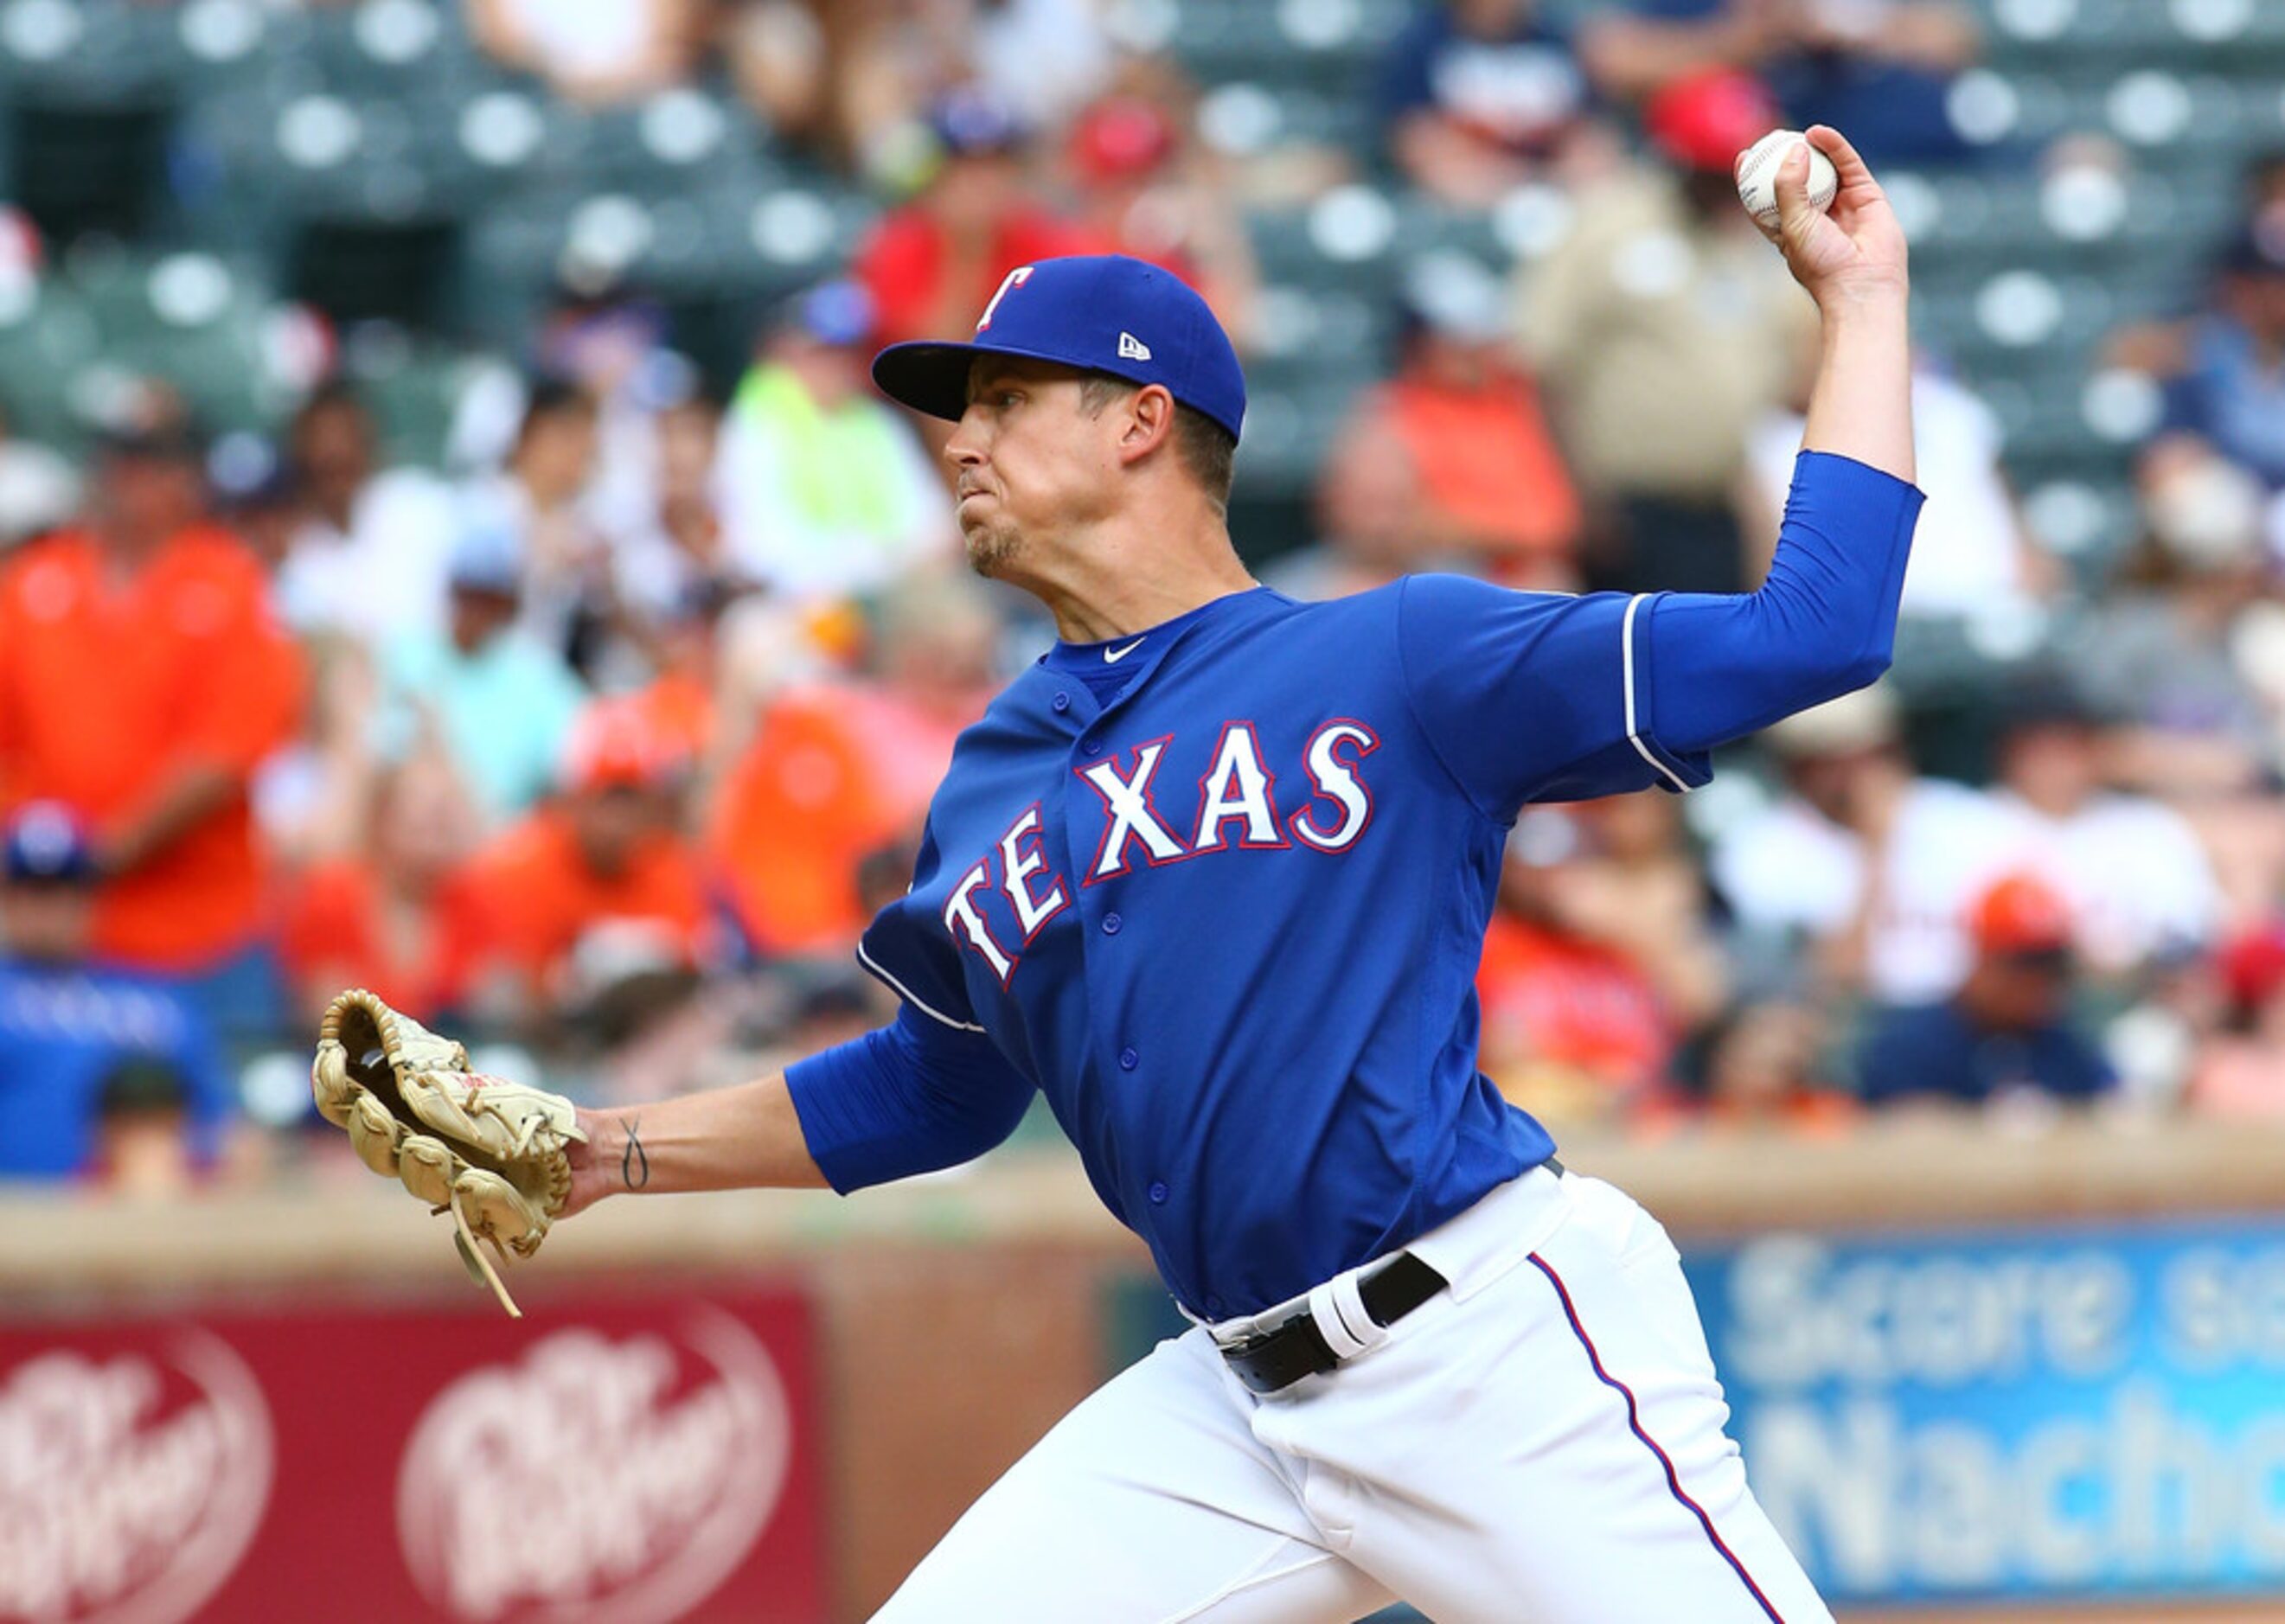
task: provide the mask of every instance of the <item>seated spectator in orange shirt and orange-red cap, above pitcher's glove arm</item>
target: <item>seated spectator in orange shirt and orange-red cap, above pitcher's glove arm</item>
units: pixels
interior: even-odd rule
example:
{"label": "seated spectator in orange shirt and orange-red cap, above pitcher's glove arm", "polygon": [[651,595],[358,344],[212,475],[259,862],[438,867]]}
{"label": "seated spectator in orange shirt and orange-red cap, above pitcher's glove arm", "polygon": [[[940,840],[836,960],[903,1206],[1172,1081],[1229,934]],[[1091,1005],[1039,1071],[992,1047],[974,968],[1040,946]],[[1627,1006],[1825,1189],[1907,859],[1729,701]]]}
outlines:
{"label": "seated spectator in orange shirt and orange-red cap, above pitcher's glove arm", "polygon": [[532,1010],[688,991],[711,957],[699,854],[679,829],[686,765],[638,706],[599,699],[571,729],[564,793],[475,857],[487,946]]}

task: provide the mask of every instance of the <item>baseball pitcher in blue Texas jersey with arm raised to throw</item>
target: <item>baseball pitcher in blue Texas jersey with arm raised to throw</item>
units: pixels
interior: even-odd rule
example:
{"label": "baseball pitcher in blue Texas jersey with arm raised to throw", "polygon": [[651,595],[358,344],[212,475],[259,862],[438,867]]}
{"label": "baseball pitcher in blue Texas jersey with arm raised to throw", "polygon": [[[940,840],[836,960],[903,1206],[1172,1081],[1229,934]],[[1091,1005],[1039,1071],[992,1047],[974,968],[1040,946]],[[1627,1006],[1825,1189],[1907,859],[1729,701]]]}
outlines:
{"label": "baseball pitcher in blue Texas jersey with arm raised to throw", "polygon": [[[1823,359],[1757,592],[1282,598],[1229,541],[1245,381],[1204,302],[1129,258],[1026,265],[971,343],[873,363],[957,423],[969,560],[1060,630],[960,738],[912,891],[857,950],[896,1021],[571,1119],[439,1087],[464,1060],[418,1028],[393,1083],[352,1010],[329,1115],[480,1261],[612,1195],[948,1167],[1047,1094],[1195,1327],[1056,1425],[882,1619],[1830,1619],[1723,1434],[1675,1247],[1476,1071],[1472,991],[1520,806],[1689,790],[1716,745],[1887,665],[1919,512],[1903,235],[1849,142],[1810,142],[1837,196],[1812,208],[1796,148],[1771,235]],[[439,1156],[407,1108],[489,1137]]]}

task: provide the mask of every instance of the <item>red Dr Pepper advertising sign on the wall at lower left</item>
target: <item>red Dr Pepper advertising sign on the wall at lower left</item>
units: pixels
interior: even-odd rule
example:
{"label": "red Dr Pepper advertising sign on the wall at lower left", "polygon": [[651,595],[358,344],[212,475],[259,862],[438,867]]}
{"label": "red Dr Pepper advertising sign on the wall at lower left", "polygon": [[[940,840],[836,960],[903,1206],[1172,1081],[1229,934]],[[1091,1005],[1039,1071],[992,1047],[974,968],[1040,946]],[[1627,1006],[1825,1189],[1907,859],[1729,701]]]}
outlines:
{"label": "red Dr Pepper advertising sign on the wall at lower left", "polygon": [[795,1293],[0,1325],[0,1619],[825,1617]]}

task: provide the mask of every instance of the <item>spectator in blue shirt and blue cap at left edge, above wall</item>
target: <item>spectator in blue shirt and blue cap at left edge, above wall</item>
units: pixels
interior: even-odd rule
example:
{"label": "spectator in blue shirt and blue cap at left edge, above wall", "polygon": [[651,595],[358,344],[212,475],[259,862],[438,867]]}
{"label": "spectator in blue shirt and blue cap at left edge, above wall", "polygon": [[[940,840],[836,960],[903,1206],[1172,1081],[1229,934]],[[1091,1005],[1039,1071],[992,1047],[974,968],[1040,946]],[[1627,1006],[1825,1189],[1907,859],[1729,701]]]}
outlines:
{"label": "spectator in blue shirt and blue cap at left edge, above wall", "polygon": [[174,987],[82,959],[94,873],[64,806],[0,831],[0,1179],[162,1188],[215,1158],[235,1094]]}

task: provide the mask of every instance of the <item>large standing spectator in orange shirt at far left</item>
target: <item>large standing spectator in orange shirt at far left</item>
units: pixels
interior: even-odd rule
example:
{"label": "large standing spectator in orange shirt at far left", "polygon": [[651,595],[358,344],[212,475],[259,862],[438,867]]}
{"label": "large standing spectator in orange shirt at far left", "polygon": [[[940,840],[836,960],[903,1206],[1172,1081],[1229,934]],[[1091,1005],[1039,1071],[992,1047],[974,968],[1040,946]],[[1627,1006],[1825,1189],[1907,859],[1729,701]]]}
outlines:
{"label": "large standing spectator in orange shirt at far left", "polygon": [[233,1032],[274,1016],[247,783],[302,708],[260,564],[206,523],[181,425],[110,436],[78,530],[0,569],[0,811],[96,829],[94,955],[192,978]]}

